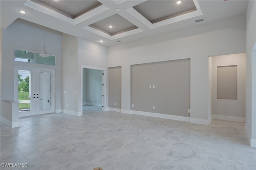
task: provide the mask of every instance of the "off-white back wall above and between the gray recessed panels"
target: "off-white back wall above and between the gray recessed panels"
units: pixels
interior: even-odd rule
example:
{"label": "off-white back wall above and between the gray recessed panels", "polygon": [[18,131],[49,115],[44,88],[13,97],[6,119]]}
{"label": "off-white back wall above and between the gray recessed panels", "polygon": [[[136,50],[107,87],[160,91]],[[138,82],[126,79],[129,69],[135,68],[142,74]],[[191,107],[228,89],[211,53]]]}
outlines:
{"label": "off-white back wall above and between the gray recessed panels", "polygon": [[109,47],[108,67],[122,66],[123,112],[130,111],[130,65],[190,57],[190,121],[207,124],[208,56],[245,52],[245,22],[238,16]]}

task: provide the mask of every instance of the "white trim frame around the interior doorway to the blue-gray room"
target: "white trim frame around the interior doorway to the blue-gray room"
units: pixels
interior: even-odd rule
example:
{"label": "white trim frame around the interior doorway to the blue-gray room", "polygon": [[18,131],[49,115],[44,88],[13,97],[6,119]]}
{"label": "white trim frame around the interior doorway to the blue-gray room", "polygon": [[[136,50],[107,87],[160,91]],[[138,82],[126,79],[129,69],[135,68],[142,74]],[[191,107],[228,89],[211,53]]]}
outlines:
{"label": "white trim frame around the interior doorway to the blue-gray room", "polygon": [[[81,65],[81,97],[80,97],[80,106],[81,106],[81,115],[83,115],[83,69],[94,69],[94,70],[101,70],[103,71],[103,102],[102,105],[103,107],[103,111],[106,111],[106,69],[105,68],[99,68],[99,67],[90,67],[90,66],[86,66],[86,65]],[[79,115],[80,116],[80,115]]]}

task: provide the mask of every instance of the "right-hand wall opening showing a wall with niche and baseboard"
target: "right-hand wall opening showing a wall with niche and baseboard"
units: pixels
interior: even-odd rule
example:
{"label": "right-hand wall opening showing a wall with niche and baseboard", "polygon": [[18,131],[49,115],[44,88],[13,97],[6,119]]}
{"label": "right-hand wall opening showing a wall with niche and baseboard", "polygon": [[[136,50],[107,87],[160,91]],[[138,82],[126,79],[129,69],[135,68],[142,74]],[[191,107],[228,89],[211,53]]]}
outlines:
{"label": "right-hand wall opening showing a wall with niche and baseboard", "polygon": [[212,119],[245,123],[246,54],[208,58]]}

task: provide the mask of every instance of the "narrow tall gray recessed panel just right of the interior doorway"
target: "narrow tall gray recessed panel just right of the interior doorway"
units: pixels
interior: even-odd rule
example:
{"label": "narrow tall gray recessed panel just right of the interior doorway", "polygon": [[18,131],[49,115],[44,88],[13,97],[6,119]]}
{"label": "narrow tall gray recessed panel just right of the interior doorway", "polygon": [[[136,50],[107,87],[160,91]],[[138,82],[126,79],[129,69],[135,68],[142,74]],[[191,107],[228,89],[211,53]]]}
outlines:
{"label": "narrow tall gray recessed panel just right of the interior doorway", "polygon": [[121,67],[108,68],[108,107],[121,109],[121,74]]}

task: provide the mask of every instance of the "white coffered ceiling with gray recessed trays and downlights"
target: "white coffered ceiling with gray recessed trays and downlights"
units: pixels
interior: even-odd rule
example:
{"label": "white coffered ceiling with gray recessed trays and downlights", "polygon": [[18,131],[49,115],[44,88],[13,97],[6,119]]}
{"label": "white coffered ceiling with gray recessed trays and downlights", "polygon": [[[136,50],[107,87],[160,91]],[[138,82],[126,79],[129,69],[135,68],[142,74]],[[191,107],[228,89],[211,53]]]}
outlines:
{"label": "white coffered ceiling with gray recessed trays and downlights", "polygon": [[[1,28],[17,18],[104,46],[246,14],[248,0],[0,0]],[[20,13],[24,10],[26,13]],[[201,19],[201,22],[195,20]],[[112,28],[110,28],[112,26]],[[102,40],[103,42],[100,42]]]}

